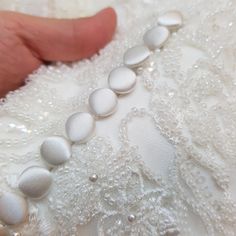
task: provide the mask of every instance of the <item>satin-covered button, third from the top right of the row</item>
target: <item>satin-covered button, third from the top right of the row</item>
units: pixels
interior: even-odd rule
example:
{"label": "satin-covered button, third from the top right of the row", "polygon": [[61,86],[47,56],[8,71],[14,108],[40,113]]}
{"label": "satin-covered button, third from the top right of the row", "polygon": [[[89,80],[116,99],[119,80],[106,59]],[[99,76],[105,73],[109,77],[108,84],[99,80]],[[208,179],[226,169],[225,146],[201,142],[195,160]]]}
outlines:
{"label": "satin-covered button, third from the top right of the row", "polygon": [[129,48],[124,54],[124,64],[130,68],[137,67],[150,56],[149,49],[144,45]]}

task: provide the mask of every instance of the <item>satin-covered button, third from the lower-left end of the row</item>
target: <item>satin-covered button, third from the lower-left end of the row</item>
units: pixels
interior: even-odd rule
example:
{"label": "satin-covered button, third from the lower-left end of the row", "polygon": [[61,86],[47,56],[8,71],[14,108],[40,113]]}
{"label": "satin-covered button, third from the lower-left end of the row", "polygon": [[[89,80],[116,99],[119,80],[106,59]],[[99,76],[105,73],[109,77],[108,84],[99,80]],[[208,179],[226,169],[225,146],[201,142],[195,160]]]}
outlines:
{"label": "satin-covered button, third from the lower-left end of the row", "polygon": [[40,148],[43,159],[52,166],[65,163],[71,157],[71,145],[67,139],[60,136],[48,137]]}

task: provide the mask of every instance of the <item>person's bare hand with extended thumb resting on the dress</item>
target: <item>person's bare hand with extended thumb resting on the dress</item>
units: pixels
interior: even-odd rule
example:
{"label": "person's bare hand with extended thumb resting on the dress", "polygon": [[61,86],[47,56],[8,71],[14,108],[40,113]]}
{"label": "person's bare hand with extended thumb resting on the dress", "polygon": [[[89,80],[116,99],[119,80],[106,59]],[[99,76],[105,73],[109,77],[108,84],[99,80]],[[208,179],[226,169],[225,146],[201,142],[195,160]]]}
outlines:
{"label": "person's bare hand with extended thumb resting on the dress", "polygon": [[112,8],[72,20],[0,12],[0,97],[24,85],[27,75],[45,62],[91,57],[112,39],[115,29]]}

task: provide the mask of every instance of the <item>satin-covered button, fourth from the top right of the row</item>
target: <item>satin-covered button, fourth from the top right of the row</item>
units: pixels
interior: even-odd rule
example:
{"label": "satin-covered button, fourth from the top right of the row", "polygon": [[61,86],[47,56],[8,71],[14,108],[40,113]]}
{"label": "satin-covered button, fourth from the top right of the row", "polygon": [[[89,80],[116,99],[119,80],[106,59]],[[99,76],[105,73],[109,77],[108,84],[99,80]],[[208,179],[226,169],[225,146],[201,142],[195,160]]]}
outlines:
{"label": "satin-covered button, fourth from the top right of the row", "polygon": [[108,84],[117,94],[130,93],[136,84],[136,74],[127,67],[118,67],[111,71]]}

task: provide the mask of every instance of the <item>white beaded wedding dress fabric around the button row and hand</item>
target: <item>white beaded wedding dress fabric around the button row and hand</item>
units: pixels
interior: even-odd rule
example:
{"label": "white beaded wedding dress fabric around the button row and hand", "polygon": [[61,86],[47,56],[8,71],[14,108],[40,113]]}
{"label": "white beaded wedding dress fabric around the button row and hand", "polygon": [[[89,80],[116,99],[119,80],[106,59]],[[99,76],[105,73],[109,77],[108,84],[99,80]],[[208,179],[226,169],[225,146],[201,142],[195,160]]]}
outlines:
{"label": "white beaded wedding dress fabric around the button row and hand", "polygon": [[[157,17],[179,10],[184,26],[137,71],[135,91],[96,122],[88,143],[53,168],[42,200],[28,199],[22,235],[236,235],[236,2],[228,0],[9,1],[2,9],[80,17],[112,5],[118,29],[91,60],[42,66],[0,107],[0,191],[21,194],[39,147],[88,111],[124,52]],[[89,176],[96,174],[96,182]]]}

